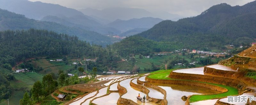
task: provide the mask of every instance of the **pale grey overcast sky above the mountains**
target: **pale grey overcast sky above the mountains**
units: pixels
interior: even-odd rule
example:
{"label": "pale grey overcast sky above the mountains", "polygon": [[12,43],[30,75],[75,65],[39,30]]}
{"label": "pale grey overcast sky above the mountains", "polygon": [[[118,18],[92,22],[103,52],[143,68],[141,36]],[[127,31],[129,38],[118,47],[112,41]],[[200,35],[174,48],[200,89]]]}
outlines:
{"label": "pale grey overcast sky above the mountains", "polygon": [[184,17],[197,16],[213,5],[228,3],[244,5],[254,0],[29,0],[60,4],[74,9],[105,9],[111,7],[140,8],[148,11],[166,11]]}

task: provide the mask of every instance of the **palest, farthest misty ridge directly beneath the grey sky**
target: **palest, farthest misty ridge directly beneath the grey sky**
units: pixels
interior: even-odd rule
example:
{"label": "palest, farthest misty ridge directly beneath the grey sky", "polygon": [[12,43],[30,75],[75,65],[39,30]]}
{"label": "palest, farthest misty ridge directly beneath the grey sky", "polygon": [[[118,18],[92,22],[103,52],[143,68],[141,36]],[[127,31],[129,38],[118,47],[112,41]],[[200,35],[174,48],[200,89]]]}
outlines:
{"label": "palest, farthest misty ridge directly beneath the grey sky", "polygon": [[182,16],[176,14],[170,14],[168,12],[157,11],[157,12],[149,12],[144,9],[139,8],[107,8],[103,10],[97,10],[92,8],[86,8],[79,10],[86,15],[96,16],[100,18],[104,18],[110,21],[115,21],[116,19],[121,20],[129,20],[131,18],[142,18],[142,17],[155,17],[162,18],[164,20],[174,20],[176,21],[178,18],[183,18]]}

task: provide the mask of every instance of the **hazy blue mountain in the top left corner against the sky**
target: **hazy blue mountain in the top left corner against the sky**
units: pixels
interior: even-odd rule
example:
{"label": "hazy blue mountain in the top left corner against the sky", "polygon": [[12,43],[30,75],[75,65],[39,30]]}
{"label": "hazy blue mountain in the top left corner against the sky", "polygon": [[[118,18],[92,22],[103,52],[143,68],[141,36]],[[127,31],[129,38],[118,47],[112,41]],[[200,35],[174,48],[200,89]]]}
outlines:
{"label": "hazy blue mountain in the top left corner against the sky", "polygon": [[58,4],[31,2],[28,0],[0,0],[0,8],[36,20],[40,20],[48,15],[65,17],[84,15],[80,11]]}

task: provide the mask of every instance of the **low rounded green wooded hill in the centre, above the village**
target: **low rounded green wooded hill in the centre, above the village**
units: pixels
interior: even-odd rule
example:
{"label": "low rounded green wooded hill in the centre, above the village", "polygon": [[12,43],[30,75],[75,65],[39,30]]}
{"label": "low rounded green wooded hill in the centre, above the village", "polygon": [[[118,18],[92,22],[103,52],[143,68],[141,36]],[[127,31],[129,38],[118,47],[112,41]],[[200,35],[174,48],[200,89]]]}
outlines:
{"label": "low rounded green wooded hill in the centre, above the village", "polygon": [[181,46],[182,43],[168,41],[156,42],[139,36],[131,36],[118,43],[114,43],[112,50],[126,57],[129,54],[149,55],[153,52],[171,52],[181,49]]}

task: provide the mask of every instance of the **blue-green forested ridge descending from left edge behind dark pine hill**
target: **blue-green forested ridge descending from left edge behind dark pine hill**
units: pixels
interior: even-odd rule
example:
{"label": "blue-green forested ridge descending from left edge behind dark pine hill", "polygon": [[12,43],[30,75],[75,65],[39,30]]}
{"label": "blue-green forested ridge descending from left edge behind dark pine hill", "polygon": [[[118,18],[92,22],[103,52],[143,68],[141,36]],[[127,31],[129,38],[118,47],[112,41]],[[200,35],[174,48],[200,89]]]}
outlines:
{"label": "blue-green forested ridge descending from left edge behind dark pine hill", "polygon": [[58,33],[65,33],[70,36],[74,35],[89,43],[99,44],[102,46],[112,44],[111,38],[103,36],[97,32],[87,31],[79,27],[68,27],[54,22],[28,19],[24,15],[15,14],[13,12],[0,9],[0,31],[20,29],[27,30],[30,28],[55,31]]}

